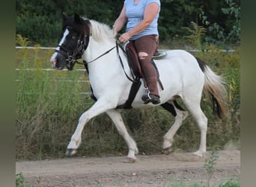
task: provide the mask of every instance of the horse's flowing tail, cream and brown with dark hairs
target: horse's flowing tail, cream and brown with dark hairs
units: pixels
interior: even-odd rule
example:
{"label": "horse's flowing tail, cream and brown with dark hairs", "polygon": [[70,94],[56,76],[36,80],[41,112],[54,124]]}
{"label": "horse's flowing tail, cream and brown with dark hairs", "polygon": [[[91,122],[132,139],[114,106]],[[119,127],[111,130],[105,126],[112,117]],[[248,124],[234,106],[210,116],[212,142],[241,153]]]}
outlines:
{"label": "horse's flowing tail, cream and brown with dark hairs", "polygon": [[213,102],[213,112],[216,112],[219,118],[227,114],[226,100],[227,91],[225,81],[222,76],[218,76],[207,64],[200,58],[196,58],[199,67],[204,73],[204,94],[210,96]]}

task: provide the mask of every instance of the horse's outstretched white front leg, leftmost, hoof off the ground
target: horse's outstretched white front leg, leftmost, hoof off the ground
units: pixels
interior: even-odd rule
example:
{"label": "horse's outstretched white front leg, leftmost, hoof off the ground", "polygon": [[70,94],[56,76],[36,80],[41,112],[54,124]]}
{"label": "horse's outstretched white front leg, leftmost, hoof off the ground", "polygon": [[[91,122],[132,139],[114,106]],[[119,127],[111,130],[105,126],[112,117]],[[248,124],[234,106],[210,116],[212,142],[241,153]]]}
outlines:
{"label": "horse's outstretched white front leg, leftmost, hoof off the ground", "polygon": [[76,131],[73,133],[70,144],[67,146],[66,156],[73,156],[76,154],[76,151],[82,141],[82,130],[85,127],[85,124],[88,123],[91,118],[96,117],[99,114],[109,110],[110,108],[115,108],[110,102],[107,102],[105,99],[98,99],[94,105],[85,111],[81,117],[79,117],[79,123],[76,126]]}

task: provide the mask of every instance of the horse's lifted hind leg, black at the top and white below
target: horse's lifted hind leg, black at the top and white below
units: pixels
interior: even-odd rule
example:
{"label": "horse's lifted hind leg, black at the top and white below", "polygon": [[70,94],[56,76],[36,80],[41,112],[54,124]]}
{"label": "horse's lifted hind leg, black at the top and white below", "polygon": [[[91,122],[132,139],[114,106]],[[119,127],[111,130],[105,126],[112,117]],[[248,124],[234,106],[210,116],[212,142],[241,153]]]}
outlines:
{"label": "horse's lifted hind leg, black at the top and white below", "polygon": [[173,125],[163,137],[162,148],[164,149],[165,154],[169,154],[171,153],[171,145],[174,142],[174,135],[182,125],[183,120],[186,119],[188,112],[183,110],[183,108],[181,108],[175,100],[173,104],[165,102],[162,107],[171,112],[171,114],[173,114],[175,117]]}

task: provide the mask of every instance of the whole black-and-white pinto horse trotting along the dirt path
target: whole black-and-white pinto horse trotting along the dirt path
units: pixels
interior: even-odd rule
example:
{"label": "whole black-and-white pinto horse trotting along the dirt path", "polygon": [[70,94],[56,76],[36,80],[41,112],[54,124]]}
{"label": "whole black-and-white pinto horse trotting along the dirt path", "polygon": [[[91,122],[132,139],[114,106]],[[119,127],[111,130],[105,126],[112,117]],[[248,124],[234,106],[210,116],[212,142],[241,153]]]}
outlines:
{"label": "whole black-and-white pinto horse trotting along the dirt path", "polygon": [[[192,117],[198,123],[201,131],[199,149],[194,153],[204,156],[207,151],[207,117],[201,110],[201,95],[207,93],[213,101],[219,116],[225,115],[225,82],[198,58],[189,52],[175,49],[167,50],[165,58],[154,60],[159,70],[159,79],[164,89],[159,86],[159,96],[163,108],[171,111],[175,116],[174,124],[163,137],[162,148],[165,153],[171,151],[174,135],[180,128],[188,111],[184,111],[175,100],[181,98]],[[76,131],[67,146],[67,156],[76,154],[81,144],[82,130],[91,118],[106,112],[112,119],[120,135],[129,147],[127,162],[135,162],[138,148],[135,141],[127,132],[118,106],[124,105],[132,87],[132,70],[127,61],[127,55],[117,40],[113,37],[112,29],[108,25],[91,19],[85,19],[79,14],[63,15],[63,37],[50,59],[52,67],[62,70],[67,67],[73,70],[77,59],[83,60],[88,70],[91,88],[96,102],[79,117]],[[80,62],[81,63],[81,62]],[[143,79],[138,82],[143,84]],[[135,93],[131,108],[145,108],[156,106],[152,103],[144,104],[143,86]]]}

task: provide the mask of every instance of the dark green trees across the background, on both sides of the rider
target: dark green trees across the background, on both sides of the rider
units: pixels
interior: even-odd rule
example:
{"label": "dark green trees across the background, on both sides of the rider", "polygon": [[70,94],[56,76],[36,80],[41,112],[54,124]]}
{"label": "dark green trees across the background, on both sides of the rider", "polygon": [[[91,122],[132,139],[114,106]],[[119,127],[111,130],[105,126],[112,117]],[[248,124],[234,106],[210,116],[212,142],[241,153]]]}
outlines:
{"label": "dark green trees across the background, on both sides of the rider", "polygon": [[[16,1],[16,34],[29,38],[31,43],[56,46],[61,34],[61,14],[79,13],[113,25],[124,0],[118,1]],[[208,43],[234,43],[240,40],[240,0],[190,1],[162,0],[159,17],[159,38],[170,42],[182,38],[190,22],[207,28]]]}

